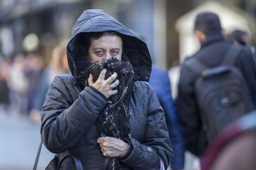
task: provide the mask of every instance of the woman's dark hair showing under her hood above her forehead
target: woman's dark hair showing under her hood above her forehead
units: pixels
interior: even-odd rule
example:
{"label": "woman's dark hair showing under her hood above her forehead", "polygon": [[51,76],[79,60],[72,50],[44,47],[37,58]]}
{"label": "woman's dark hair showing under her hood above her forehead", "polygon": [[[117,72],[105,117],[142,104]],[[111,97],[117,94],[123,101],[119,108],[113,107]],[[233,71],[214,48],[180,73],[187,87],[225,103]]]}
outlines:
{"label": "woman's dark hair showing under her hood above her forehead", "polygon": [[92,32],[92,33],[81,33],[80,38],[80,48],[82,49],[84,56],[88,56],[88,51],[90,48],[90,44],[92,39],[97,40],[103,35],[117,35],[121,37],[121,40],[123,41],[123,34],[120,34],[115,31],[106,31],[106,32]]}

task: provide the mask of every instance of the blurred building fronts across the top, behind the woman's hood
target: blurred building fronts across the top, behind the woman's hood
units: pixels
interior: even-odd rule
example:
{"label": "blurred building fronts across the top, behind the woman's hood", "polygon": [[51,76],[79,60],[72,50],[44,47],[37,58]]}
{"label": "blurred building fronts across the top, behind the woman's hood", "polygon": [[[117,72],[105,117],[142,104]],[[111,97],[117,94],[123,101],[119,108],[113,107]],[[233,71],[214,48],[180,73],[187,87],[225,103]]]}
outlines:
{"label": "blurred building fronts across the top, behind the woman's hood", "polygon": [[[179,65],[179,31],[175,28],[176,20],[203,2],[205,1],[1,0],[1,54],[12,56],[24,51],[24,37],[34,33],[39,40],[36,50],[46,60],[50,60],[48,58],[53,47],[63,39],[70,39],[72,26],[83,10],[103,9],[143,38],[156,65],[169,69]],[[218,2],[223,3],[221,0]],[[230,0],[224,3],[251,12],[254,17],[256,15],[256,3],[253,0]]]}

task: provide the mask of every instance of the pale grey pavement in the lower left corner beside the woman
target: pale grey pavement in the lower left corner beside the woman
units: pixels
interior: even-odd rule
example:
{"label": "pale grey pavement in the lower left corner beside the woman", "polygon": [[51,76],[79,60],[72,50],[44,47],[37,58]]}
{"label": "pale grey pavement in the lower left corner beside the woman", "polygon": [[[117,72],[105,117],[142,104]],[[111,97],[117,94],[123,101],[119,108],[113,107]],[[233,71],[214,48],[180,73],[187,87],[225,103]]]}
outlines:
{"label": "pale grey pavement in the lower left corner beside the woman", "polygon": [[[0,136],[0,169],[33,169],[40,144],[40,124],[0,106]],[[52,158],[53,154],[43,146],[37,170],[45,169]]]}

